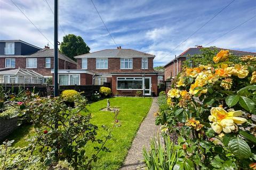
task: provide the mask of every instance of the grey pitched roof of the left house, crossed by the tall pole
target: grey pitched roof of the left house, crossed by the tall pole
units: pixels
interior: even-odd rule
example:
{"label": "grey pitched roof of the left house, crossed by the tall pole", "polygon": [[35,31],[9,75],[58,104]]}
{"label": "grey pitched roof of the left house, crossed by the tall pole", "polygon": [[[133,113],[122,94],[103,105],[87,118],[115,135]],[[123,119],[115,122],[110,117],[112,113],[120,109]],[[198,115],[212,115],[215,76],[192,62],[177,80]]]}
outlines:
{"label": "grey pitched roof of the left house, crossed by the tall pole", "polygon": [[[41,50],[37,51],[36,53],[30,54],[29,56],[54,57],[54,50],[53,49],[44,48],[44,49],[41,49]],[[66,60],[66,61],[68,61],[70,63],[76,64],[76,62],[74,60],[72,60],[71,58],[69,58],[66,55],[62,54],[60,51],[59,51],[58,57],[61,60]]]}

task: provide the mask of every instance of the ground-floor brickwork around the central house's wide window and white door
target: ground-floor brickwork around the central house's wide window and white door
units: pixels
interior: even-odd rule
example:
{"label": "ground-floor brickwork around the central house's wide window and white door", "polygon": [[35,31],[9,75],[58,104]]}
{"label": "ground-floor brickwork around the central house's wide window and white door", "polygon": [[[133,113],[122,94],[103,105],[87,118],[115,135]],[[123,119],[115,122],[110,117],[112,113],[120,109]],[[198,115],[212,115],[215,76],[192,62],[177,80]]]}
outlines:
{"label": "ground-floor brickwork around the central house's wide window and white door", "polygon": [[[141,77],[141,75],[112,75],[111,80],[111,90],[112,93],[115,95],[118,91],[118,94],[122,95],[122,90],[117,90],[117,77]],[[157,95],[157,75],[146,75],[145,77],[151,77],[151,92],[155,92]],[[132,94],[135,95],[136,91],[138,90],[132,90]],[[141,90],[142,91],[142,90]]]}

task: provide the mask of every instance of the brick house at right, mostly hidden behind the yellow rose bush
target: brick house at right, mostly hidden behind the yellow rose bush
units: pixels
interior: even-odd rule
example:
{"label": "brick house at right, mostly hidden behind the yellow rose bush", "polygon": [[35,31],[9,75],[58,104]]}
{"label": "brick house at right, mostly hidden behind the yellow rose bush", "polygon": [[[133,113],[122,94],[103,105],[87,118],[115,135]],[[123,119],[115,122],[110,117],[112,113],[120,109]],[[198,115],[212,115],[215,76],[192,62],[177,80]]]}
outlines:
{"label": "brick house at right, mostly hidden behind the yellow rose bush", "polygon": [[[194,56],[196,54],[202,54],[201,49],[205,48],[202,46],[197,46],[195,48],[188,48],[187,50],[185,50],[185,52],[181,53],[179,56],[175,56],[175,58],[173,60],[171,60],[169,63],[167,63],[164,66],[164,80],[170,80],[170,79],[174,79],[178,73],[180,73],[182,71],[182,63],[183,61],[188,60],[189,57]],[[218,48],[218,47],[212,47],[212,48],[216,48],[218,50],[221,50],[223,48]],[[225,49],[227,50],[227,49]],[[256,55],[256,53],[253,52],[243,52],[243,51],[239,51],[239,50],[233,50],[233,49],[229,49],[230,53],[233,53],[236,56],[244,56],[244,55]]]}

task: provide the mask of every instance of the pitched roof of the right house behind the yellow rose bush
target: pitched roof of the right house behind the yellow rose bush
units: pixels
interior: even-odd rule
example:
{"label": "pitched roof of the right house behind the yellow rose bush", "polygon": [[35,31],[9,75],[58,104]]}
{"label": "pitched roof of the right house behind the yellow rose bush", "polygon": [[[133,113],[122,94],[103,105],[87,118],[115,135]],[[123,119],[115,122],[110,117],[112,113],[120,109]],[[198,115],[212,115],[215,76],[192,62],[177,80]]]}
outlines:
{"label": "pitched roof of the right house behind the yellow rose bush", "polygon": [[[205,47],[203,47],[205,48]],[[235,56],[243,56],[243,55],[256,55],[256,53],[254,52],[243,52],[243,51],[239,51],[239,50],[234,50],[234,49],[225,49],[225,48],[219,48],[219,47],[207,47],[207,48],[214,48],[214,49],[224,49],[224,50],[229,50],[230,53],[234,54]],[[187,50],[185,50],[185,52],[181,53],[178,57],[186,57],[186,56],[194,56],[195,54],[202,54],[201,52],[202,48],[188,48]],[[167,65],[171,64],[173,61],[175,60],[175,58],[173,60],[171,60],[169,63],[165,64],[164,67],[166,67]]]}

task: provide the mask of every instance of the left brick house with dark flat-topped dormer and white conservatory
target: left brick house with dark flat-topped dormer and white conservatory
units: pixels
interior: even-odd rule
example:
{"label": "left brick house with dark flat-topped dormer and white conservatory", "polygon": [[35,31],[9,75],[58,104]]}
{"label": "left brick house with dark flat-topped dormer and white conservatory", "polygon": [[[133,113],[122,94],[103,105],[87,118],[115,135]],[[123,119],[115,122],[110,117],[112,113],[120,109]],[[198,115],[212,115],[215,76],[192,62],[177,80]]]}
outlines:
{"label": "left brick house with dark flat-topped dormer and white conservatory", "polygon": [[[69,57],[59,52],[59,69],[76,69],[76,62]],[[53,69],[54,51],[49,47],[39,48],[22,40],[0,40],[0,73],[6,70],[22,71],[31,70],[42,75],[42,83],[46,83],[47,79],[52,77],[51,69]],[[7,76],[12,77],[6,73],[6,79],[3,83],[12,83],[14,79],[7,79]],[[2,73],[1,73],[2,74]],[[5,81],[4,81],[5,80]],[[17,80],[17,83],[32,83],[35,82],[29,77]],[[7,81],[7,82],[6,82]],[[38,81],[39,82],[39,81]]]}

